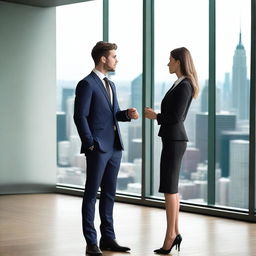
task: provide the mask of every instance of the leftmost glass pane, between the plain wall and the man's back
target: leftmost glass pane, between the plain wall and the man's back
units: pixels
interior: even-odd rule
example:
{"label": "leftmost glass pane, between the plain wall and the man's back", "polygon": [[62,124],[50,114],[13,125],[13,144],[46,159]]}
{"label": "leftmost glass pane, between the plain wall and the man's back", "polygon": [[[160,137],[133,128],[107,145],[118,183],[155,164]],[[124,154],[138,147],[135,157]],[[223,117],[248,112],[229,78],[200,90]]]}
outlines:
{"label": "leftmost glass pane, between the plain wall and the man's back", "polygon": [[102,40],[101,13],[102,0],[57,7],[57,182],[63,185],[84,187],[86,163],[73,121],[74,93],[94,67],[91,50]]}

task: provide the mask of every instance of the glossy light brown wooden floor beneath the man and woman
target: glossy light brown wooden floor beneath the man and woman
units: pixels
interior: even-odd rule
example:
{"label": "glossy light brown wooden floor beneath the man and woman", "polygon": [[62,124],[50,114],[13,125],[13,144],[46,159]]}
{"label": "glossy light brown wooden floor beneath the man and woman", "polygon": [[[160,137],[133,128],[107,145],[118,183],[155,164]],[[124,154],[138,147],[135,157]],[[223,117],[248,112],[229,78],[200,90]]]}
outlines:
{"label": "glossy light brown wooden floor beneath the man and woman", "polygon": [[[0,256],[83,256],[82,198],[59,195],[0,196]],[[98,206],[98,205],[97,205]],[[115,230],[131,253],[155,255],[165,233],[163,209],[116,203]],[[98,211],[95,219],[99,231]],[[180,214],[179,256],[256,256],[256,224],[197,214]]]}

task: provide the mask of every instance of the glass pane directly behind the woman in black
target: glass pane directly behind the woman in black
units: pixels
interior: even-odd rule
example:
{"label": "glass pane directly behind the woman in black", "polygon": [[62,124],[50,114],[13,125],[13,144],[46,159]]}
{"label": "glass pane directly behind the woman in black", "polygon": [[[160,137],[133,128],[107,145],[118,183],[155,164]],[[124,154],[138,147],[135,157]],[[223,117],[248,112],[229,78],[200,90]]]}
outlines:
{"label": "glass pane directly behind the woman in black", "polygon": [[[156,112],[160,112],[161,100],[177,79],[174,74],[169,74],[167,67],[172,49],[184,46],[190,50],[199,77],[201,92],[192,101],[185,121],[189,142],[180,170],[179,193],[183,201],[202,204],[207,200],[208,19],[208,1],[155,1]],[[155,121],[153,196],[163,195],[158,193],[162,149],[158,131]]]}

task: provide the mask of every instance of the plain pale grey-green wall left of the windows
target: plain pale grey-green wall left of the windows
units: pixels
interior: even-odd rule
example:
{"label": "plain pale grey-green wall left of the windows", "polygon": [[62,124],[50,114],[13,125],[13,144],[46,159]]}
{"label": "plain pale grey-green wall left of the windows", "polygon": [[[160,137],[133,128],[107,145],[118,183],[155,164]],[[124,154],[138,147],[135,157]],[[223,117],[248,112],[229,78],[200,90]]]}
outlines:
{"label": "plain pale grey-green wall left of the windows", "polygon": [[0,1],[0,194],[54,190],[55,10]]}

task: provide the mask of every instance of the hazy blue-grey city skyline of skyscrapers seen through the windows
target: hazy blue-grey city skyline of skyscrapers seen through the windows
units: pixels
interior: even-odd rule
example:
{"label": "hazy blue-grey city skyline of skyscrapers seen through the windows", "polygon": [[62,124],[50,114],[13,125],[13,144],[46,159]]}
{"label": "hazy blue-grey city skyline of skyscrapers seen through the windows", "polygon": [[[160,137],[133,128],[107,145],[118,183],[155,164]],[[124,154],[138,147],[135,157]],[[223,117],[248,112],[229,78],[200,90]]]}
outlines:
{"label": "hazy blue-grey city skyline of skyscrapers seen through the windows", "polygon": [[[249,103],[247,100],[249,97],[249,66],[247,64],[249,50],[244,45],[242,31],[240,27],[236,35],[236,41],[230,47],[232,48],[232,56],[229,60],[229,71],[227,69],[222,70],[221,79],[216,80],[216,203],[238,208],[244,208],[246,205],[242,204],[241,200],[234,201],[230,193],[234,186],[238,186],[236,184],[237,177],[243,177],[244,184],[247,184],[246,180],[249,173],[248,166],[246,166],[249,134]],[[218,47],[216,54],[218,56]],[[218,57],[216,60],[216,70],[219,70],[218,62],[220,60]],[[122,65],[120,65],[120,69],[123,68]],[[165,68],[167,69],[166,63]],[[136,68],[136,72],[129,71],[129,74],[133,73],[133,76],[129,79],[127,76],[121,76],[116,71],[111,74],[111,79],[116,83],[121,109],[135,106],[142,114],[142,71],[140,69],[141,64],[140,68]],[[199,70],[202,69],[199,67]],[[174,82],[175,76],[170,76],[166,72],[168,76],[161,78],[157,69],[155,69],[155,72],[153,107],[159,110],[161,99]],[[80,79],[82,77],[79,77],[78,80]],[[62,134],[59,138],[62,137],[62,139],[58,140],[58,179],[63,183],[73,182],[78,186],[83,186],[85,178],[85,165],[83,162],[85,159],[84,156],[79,155],[79,137],[74,130],[72,122],[74,89],[78,80],[65,81],[59,79],[58,81],[58,111],[61,111],[57,114],[58,127],[65,126],[65,131],[59,131]],[[185,122],[190,141],[180,172],[179,189],[182,200],[205,203],[207,201],[208,186],[208,77],[200,77],[200,83],[201,94],[197,100],[192,102]],[[125,150],[118,176],[118,191],[140,194],[142,164],[141,119],[128,125],[120,124],[120,128]],[[154,196],[162,196],[157,192],[161,153],[161,142],[157,136],[158,129],[158,125],[154,122],[154,166],[152,177],[154,181]],[[63,133],[66,135],[63,136]],[[239,150],[243,150],[244,153],[240,158],[235,159],[235,154]],[[236,160],[236,166],[243,166],[243,169],[234,169],[232,159]],[[65,169],[67,170],[66,173]],[[224,197],[220,196],[219,189],[225,193]],[[246,188],[239,187],[239,190],[241,190],[243,196],[246,196],[244,194]]]}

